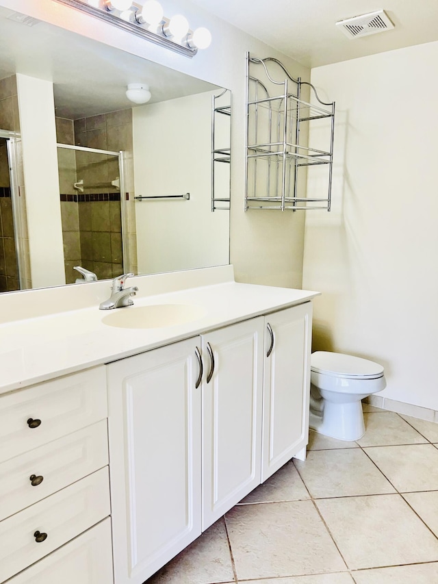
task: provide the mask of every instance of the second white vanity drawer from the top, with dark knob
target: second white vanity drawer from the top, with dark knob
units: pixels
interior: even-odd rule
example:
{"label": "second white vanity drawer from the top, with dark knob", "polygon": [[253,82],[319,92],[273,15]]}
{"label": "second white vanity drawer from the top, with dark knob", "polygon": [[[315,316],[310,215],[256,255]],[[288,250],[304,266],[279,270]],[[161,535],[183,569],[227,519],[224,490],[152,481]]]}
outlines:
{"label": "second white vanity drawer from the top, with dark knob", "polygon": [[107,464],[107,420],[1,463],[0,521]]}

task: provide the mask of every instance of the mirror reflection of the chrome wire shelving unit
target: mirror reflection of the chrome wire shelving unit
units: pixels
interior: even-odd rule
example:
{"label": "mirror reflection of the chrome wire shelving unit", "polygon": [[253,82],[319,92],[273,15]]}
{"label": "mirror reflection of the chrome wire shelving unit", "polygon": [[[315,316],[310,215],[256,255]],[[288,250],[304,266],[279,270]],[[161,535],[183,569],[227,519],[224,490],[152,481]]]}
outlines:
{"label": "mirror reflection of the chrome wire shelving unit", "polygon": [[231,91],[211,98],[211,211],[230,208]]}

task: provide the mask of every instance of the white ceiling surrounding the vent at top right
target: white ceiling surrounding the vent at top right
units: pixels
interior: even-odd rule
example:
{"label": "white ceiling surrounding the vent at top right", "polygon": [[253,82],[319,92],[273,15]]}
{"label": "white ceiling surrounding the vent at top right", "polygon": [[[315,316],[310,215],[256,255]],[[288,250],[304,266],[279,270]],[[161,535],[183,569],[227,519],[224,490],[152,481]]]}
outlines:
{"label": "white ceiling surrounding the vent at top right", "polygon": [[[437,0],[192,0],[309,67],[438,40]],[[385,10],[395,28],[348,39],[337,21]]]}

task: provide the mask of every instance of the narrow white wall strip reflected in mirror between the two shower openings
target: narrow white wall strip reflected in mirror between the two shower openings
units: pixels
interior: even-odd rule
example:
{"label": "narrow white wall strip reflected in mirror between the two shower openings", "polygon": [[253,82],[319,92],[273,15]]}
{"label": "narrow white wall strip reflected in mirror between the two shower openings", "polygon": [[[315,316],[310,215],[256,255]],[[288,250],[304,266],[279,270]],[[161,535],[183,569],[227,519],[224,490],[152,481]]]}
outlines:
{"label": "narrow white wall strip reflected in mirror between the two shower openings", "polygon": [[[16,75],[33,288],[65,283],[53,84]],[[48,220],[49,218],[49,220]]]}

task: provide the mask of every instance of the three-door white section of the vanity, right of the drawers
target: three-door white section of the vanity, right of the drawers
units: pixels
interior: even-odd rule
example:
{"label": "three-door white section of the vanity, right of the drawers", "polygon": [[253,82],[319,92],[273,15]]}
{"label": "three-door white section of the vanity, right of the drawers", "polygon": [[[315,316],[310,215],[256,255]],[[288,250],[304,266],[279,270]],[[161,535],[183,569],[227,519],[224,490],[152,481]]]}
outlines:
{"label": "three-door white section of the vanity, right of the drawers", "polygon": [[107,366],[116,584],[144,583],[305,449],[310,320],[307,303]]}

